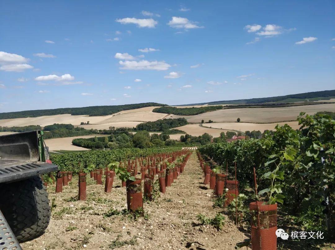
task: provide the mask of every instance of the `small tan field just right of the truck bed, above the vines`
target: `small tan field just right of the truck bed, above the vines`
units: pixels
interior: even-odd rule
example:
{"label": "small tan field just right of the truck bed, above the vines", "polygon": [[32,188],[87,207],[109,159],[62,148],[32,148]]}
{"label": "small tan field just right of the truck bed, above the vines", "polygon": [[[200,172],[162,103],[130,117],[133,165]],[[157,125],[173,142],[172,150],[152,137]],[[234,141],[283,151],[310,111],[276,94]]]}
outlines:
{"label": "small tan field just right of the truck bed, above the vines", "polygon": [[72,140],[76,138],[91,138],[95,136],[102,137],[109,135],[73,136],[73,137],[46,139],[45,144],[49,147],[49,150],[88,150],[86,148],[72,145]]}

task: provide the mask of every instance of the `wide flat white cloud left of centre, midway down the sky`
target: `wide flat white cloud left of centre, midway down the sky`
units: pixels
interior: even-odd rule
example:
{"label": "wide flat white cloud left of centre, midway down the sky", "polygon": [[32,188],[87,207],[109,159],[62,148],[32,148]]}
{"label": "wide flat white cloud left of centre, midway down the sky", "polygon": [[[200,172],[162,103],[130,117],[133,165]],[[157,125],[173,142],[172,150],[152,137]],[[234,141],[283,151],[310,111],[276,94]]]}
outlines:
{"label": "wide flat white cloud left of centre, midway down the sky", "polygon": [[119,61],[122,66],[120,69],[126,70],[168,70],[171,65],[164,61]]}

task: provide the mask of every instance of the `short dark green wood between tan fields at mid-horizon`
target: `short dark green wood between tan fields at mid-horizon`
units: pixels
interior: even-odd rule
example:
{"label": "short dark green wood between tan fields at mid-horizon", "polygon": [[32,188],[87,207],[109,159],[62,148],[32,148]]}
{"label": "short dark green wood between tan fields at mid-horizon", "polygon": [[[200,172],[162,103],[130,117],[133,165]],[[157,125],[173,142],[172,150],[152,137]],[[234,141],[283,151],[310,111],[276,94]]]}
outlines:
{"label": "short dark green wood between tan fields at mid-horizon", "polygon": [[206,106],[206,107],[190,107],[190,108],[176,108],[170,106],[164,106],[154,108],[152,111],[156,113],[175,114],[175,115],[196,115],[205,112],[215,111],[222,109],[223,106]]}

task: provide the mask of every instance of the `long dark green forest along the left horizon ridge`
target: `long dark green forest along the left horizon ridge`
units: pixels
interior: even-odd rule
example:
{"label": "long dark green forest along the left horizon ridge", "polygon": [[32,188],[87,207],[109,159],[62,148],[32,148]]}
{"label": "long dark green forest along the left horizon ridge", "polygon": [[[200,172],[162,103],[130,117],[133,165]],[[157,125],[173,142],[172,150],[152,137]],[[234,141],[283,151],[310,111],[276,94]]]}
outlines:
{"label": "long dark green forest along the left horizon ridge", "polygon": [[167,105],[156,102],[145,102],[137,104],[114,105],[114,106],[90,106],[81,108],[27,110],[27,111],[0,113],[0,119],[38,117],[43,115],[55,115],[55,114],[72,114],[72,115],[89,115],[89,116],[109,115],[123,110],[152,107],[152,106],[167,106]]}

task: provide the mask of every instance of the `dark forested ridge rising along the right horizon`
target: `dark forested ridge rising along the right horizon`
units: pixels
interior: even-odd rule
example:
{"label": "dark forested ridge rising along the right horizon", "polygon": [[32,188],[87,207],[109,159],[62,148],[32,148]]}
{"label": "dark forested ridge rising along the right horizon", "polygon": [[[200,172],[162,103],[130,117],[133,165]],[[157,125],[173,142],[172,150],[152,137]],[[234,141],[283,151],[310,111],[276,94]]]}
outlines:
{"label": "dark forested ridge rising along the right horizon", "polygon": [[[183,105],[179,105],[179,106],[193,106],[193,105],[205,105],[205,104],[209,104],[209,105],[256,104],[256,103],[282,101],[282,100],[289,99],[289,98],[301,99],[300,101],[304,101],[305,99],[311,99],[311,98],[316,98],[316,97],[334,97],[334,96],[335,96],[335,90],[324,90],[324,91],[306,92],[306,93],[301,93],[301,94],[282,95],[282,96],[274,96],[274,97],[192,103],[192,104],[183,104]],[[328,98],[326,98],[326,99],[328,99]]]}

